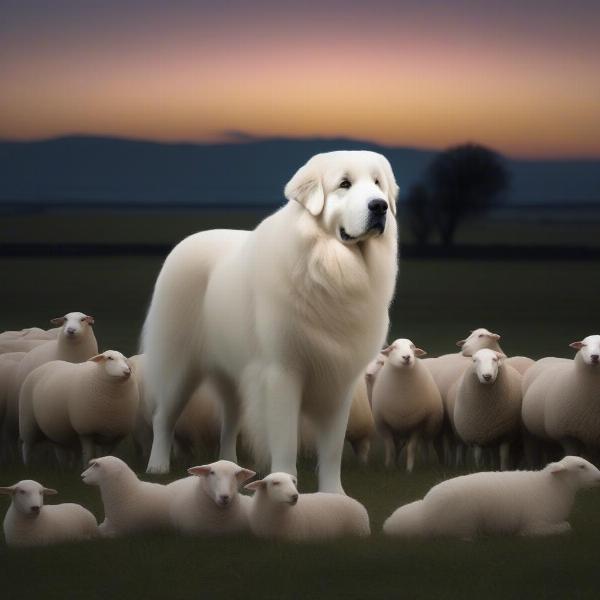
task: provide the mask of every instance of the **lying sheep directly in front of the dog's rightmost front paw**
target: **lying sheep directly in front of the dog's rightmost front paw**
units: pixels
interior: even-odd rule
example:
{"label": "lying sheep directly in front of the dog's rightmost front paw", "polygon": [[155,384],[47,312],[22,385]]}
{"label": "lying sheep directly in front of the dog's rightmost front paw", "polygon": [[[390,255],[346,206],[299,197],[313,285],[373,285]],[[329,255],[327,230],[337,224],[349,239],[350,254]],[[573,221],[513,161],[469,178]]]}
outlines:
{"label": "lying sheep directly in front of the dog's rightmost front paw", "polygon": [[254,492],[250,527],[257,537],[294,542],[370,535],[365,507],[343,494],[298,494],[296,478],[271,473],[245,487]]}

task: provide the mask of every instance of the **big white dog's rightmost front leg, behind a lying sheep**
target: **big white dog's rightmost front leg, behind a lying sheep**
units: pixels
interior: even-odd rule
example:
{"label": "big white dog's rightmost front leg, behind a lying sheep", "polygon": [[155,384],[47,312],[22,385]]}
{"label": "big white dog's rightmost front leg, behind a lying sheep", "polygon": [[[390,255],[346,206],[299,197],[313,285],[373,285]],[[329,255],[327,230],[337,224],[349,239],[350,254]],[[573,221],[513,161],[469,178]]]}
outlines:
{"label": "big white dog's rightmost front leg, behind a lying sheep", "polygon": [[320,492],[345,493],[341,476],[342,453],[351,404],[352,392],[348,392],[342,405],[329,418],[315,420]]}

